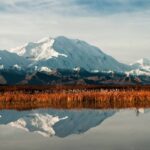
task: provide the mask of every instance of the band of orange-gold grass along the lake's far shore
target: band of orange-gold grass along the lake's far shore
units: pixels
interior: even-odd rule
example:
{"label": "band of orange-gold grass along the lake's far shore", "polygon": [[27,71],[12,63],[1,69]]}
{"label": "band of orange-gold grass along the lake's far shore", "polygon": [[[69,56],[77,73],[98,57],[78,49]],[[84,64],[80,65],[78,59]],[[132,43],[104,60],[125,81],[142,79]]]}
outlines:
{"label": "band of orange-gold grass along the lake's far shore", "polygon": [[19,90],[20,88],[8,89],[0,92],[0,109],[150,107],[150,89],[145,87],[125,89],[61,87],[57,90],[32,89],[32,92]]}

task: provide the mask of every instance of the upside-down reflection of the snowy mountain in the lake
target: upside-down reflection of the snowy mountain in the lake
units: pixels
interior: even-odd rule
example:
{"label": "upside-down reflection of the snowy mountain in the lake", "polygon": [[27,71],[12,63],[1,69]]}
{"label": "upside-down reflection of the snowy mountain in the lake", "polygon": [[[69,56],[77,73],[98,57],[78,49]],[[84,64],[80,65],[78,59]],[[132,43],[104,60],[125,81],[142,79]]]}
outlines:
{"label": "upside-down reflection of the snowy mountain in the lake", "polygon": [[0,124],[38,133],[45,137],[67,137],[82,134],[100,125],[115,114],[115,110],[57,110],[0,111]]}

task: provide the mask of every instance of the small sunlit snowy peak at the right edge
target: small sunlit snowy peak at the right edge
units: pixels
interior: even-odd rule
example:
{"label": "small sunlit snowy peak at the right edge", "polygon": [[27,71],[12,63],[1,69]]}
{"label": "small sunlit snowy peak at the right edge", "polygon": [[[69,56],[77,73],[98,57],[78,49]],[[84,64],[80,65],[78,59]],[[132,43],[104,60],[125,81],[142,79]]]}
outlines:
{"label": "small sunlit snowy peak at the right edge", "polygon": [[150,76],[150,59],[142,58],[131,64],[131,67],[133,69],[128,72],[129,74]]}

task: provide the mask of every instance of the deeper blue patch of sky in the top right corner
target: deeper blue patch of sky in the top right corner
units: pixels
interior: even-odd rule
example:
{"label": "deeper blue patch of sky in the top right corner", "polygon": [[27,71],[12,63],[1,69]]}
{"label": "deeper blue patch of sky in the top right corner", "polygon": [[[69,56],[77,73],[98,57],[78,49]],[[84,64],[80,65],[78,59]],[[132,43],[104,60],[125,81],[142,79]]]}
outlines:
{"label": "deeper blue patch of sky in the top right corner", "polygon": [[74,0],[74,2],[97,14],[131,12],[150,8],[149,0]]}

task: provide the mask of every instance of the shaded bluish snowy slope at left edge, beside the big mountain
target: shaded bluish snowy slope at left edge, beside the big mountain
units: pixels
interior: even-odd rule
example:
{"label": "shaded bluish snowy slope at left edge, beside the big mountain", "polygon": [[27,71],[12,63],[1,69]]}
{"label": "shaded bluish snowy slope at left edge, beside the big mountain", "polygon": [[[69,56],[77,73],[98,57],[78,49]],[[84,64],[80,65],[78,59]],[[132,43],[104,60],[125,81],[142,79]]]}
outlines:
{"label": "shaded bluish snowy slope at left edge, beside the big mountain", "polygon": [[29,62],[15,53],[0,50],[0,69],[10,67],[26,67]]}

